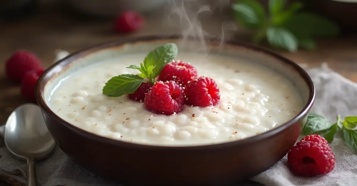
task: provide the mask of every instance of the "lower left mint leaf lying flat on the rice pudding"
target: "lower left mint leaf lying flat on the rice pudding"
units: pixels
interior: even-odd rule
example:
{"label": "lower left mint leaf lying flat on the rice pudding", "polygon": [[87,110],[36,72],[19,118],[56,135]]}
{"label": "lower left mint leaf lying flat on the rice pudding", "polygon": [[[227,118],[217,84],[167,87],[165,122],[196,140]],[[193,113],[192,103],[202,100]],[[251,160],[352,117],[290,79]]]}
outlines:
{"label": "lower left mint leaf lying flat on the rice pudding", "polygon": [[103,94],[109,97],[119,97],[124,94],[131,94],[145,82],[138,75],[122,74],[112,77],[103,87]]}

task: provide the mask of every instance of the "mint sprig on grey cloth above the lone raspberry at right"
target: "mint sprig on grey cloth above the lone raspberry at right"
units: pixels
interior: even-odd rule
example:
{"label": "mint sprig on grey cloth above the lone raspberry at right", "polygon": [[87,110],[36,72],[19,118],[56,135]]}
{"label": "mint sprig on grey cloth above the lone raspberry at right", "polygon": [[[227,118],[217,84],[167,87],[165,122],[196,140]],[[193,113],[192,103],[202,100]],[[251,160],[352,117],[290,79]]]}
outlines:
{"label": "mint sprig on grey cloth above the lone raspberry at right", "polygon": [[318,134],[324,137],[328,143],[333,141],[334,135],[340,130],[347,145],[357,151],[357,117],[348,116],[341,121],[340,116],[337,116],[336,123],[331,123],[325,117],[315,113],[309,113],[302,134]]}

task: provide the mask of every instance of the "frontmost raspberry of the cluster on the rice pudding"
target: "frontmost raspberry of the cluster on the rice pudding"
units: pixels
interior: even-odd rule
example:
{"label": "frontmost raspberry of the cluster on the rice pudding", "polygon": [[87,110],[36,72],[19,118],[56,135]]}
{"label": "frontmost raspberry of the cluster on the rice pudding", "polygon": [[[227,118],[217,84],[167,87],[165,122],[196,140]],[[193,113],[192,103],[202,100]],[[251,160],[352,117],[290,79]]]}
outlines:
{"label": "frontmost raspberry of the cluster on the rice pudding", "polygon": [[145,106],[159,114],[172,115],[182,110],[185,94],[174,81],[157,81],[145,95]]}

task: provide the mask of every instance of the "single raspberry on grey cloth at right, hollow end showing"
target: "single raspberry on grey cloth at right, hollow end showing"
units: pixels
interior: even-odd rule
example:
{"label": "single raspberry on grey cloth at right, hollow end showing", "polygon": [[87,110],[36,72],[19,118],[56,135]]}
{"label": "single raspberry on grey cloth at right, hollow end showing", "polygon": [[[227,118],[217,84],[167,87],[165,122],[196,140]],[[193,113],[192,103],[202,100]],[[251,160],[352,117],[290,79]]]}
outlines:
{"label": "single raspberry on grey cloth at right, hollow end showing", "polygon": [[326,143],[297,142],[288,153],[288,165],[300,176],[317,176],[331,172],[335,167],[335,155]]}

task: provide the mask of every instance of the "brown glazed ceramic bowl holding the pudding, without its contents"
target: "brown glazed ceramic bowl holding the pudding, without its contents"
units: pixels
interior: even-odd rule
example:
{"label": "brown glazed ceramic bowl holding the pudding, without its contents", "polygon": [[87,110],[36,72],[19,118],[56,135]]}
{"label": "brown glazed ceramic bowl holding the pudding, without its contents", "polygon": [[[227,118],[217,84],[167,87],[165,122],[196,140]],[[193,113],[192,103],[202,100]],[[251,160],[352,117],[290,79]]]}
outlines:
{"label": "brown glazed ceramic bowl holding the pudding, without its contents", "polygon": [[254,176],[283,158],[305,124],[315,97],[314,84],[296,63],[239,42],[229,41],[222,46],[214,39],[205,41],[212,54],[249,60],[282,74],[296,86],[303,100],[304,107],[296,117],[265,133],[219,144],[154,146],[101,137],[64,121],[50,109],[50,94],[67,75],[100,60],[140,51],[147,53],[168,42],[177,43],[181,52],[197,48],[193,39],[182,42],[178,38],[146,36],[114,41],[71,54],[48,68],[37,83],[36,99],[47,128],[63,152],[97,175],[128,185],[156,186],[231,184]]}

